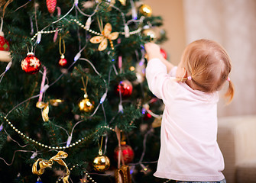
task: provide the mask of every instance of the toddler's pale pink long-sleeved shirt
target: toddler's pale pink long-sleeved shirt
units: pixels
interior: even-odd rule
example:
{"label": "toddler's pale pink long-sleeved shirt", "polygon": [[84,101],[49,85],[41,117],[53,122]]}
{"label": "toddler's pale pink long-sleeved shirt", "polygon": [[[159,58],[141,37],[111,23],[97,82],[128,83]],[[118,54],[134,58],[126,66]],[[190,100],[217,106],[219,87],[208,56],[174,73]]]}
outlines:
{"label": "toddler's pale pink long-sleeved shirt", "polygon": [[[160,156],[155,176],[180,181],[220,181],[224,159],[217,143],[219,93],[193,90],[177,82],[160,59],[147,63],[151,92],[165,104]],[[173,77],[172,77],[173,76]]]}

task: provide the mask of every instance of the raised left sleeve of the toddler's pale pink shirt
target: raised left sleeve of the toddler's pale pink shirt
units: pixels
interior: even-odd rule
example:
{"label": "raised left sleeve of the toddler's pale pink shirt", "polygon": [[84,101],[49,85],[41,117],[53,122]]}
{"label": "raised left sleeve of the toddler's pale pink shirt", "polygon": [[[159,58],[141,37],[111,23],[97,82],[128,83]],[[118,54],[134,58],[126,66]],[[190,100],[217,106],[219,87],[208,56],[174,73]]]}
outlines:
{"label": "raised left sleeve of the toddler's pale pink shirt", "polygon": [[164,99],[164,83],[170,79],[167,73],[167,67],[160,61],[160,59],[151,59],[146,67],[147,85],[151,92],[157,98]]}

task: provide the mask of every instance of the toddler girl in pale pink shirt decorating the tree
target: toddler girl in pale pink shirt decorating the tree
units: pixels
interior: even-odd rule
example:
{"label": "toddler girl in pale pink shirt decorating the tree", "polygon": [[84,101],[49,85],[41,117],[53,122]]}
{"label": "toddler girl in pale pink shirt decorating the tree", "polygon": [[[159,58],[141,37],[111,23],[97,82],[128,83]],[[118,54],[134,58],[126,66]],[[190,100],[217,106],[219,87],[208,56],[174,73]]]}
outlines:
{"label": "toddler girl in pale pink shirt decorating the tree", "polygon": [[146,78],[151,92],[165,104],[160,134],[160,156],[155,176],[177,182],[225,182],[224,159],[216,140],[218,91],[228,82],[228,53],[212,40],[196,40],[183,52],[178,66],[146,43]]}

